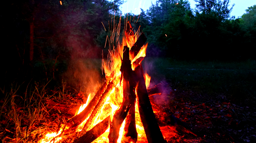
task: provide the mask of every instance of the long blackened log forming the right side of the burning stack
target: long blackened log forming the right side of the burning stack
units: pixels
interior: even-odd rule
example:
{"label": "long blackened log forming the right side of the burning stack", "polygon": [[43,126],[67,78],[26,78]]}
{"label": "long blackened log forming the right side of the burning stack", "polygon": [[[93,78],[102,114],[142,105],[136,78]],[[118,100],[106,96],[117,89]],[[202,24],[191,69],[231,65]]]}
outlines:
{"label": "long blackened log forming the right side of the burning stack", "polygon": [[135,73],[138,79],[136,93],[138,97],[139,115],[146,133],[147,141],[148,143],[166,143],[150,104],[141,65],[135,68]]}

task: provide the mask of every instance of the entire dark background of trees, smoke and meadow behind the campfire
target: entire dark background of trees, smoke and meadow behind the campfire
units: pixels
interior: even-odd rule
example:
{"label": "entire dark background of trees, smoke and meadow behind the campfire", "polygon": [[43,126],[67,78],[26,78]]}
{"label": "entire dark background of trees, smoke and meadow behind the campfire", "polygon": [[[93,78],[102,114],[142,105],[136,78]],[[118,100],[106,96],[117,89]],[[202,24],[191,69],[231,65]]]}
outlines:
{"label": "entire dark background of trees, smoke and meadow behind the campfire", "polygon": [[[230,0],[157,0],[131,19],[147,37],[152,80],[199,93],[253,97],[256,92],[256,5],[230,15]],[[66,83],[86,92],[100,82],[101,59],[123,0],[5,0],[1,4],[1,95],[14,85]],[[231,5],[231,8],[229,8]],[[115,18],[114,18],[115,17]],[[104,26],[105,27],[104,27]],[[123,31],[121,31],[121,34]],[[96,65],[96,68],[95,68]],[[150,64],[148,64],[150,65]],[[158,67],[159,66],[159,67]],[[81,76],[82,75],[82,76]],[[86,75],[86,76],[85,76]],[[5,90],[3,90],[5,89]],[[244,96],[243,96],[244,97]]]}

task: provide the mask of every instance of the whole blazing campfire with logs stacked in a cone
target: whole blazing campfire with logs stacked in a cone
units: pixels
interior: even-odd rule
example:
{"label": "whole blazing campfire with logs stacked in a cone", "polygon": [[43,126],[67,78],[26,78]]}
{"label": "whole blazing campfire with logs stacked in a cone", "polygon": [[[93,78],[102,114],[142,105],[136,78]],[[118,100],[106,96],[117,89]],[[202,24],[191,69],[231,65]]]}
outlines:
{"label": "whole blazing campfire with logs stacked in a cone", "polygon": [[[134,34],[130,21],[126,23],[123,45],[110,50],[108,60],[103,60],[106,80],[101,88],[94,96],[88,95],[77,115],[40,143],[62,142],[67,136],[75,136],[73,143],[166,143],[154,113],[157,105],[148,94],[159,90],[157,86],[147,90],[150,77],[141,65],[147,38]],[[170,133],[171,129],[163,130]]]}

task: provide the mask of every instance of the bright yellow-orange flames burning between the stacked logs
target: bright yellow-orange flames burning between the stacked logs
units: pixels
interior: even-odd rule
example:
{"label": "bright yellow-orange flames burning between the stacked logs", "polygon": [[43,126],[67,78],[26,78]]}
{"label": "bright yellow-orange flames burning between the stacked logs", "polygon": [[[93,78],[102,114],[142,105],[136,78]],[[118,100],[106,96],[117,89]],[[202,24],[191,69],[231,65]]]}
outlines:
{"label": "bright yellow-orange flames burning between the stacked logs", "polygon": [[[60,2],[62,4],[62,1],[60,1]],[[115,25],[115,23],[114,23],[114,25]],[[128,37],[124,38],[123,44],[127,44],[127,46],[129,48],[131,48],[137,41],[138,34],[139,33],[136,32],[134,36],[128,36]],[[114,39],[115,39],[115,34],[114,34],[114,36],[110,36],[110,38],[109,38],[110,42],[112,42],[112,43],[114,42]],[[102,108],[99,111],[97,111],[97,113],[95,114],[95,120],[93,122],[93,125],[90,125],[90,127],[88,129],[83,129],[84,125],[86,124],[86,122],[89,118],[88,117],[76,128],[76,132],[80,132],[82,130],[88,131],[88,130],[92,129],[95,125],[97,125],[98,123],[103,121],[109,115],[110,115],[110,119],[112,120],[115,112],[120,108],[120,106],[123,102],[123,80],[120,83],[120,80],[121,80],[120,68],[122,65],[123,47],[124,47],[124,45],[118,44],[118,46],[116,48],[114,47],[112,50],[110,49],[109,55],[107,58],[108,60],[107,61],[103,60],[103,63],[102,63],[102,67],[103,67],[105,75],[106,75],[106,81],[111,82],[113,80],[116,80],[115,87],[108,95],[108,98],[104,102],[104,105],[102,106]],[[131,65],[133,65],[132,63],[134,61],[136,61],[136,59],[146,56],[146,48],[147,48],[147,44],[144,45],[140,49],[138,54],[133,59],[130,59]],[[133,56],[130,55],[130,57],[132,58]],[[134,68],[135,67],[132,66],[132,70],[134,70]],[[150,76],[148,76],[148,74],[145,74],[145,82],[146,82],[146,87],[148,87],[149,82],[150,82]],[[81,113],[85,109],[85,107],[90,102],[91,98],[92,98],[91,94],[89,94],[88,98],[86,100],[86,103],[80,106],[77,114]],[[124,122],[121,125],[118,143],[122,142],[121,140],[122,140],[122,137],[124,134],[125,123],[126,123],[126,120],[124,120]],[[142,122],[141,122],[141,119],[139,116],[137,101],[135,103],[135,123],[136,123],[136,130],[138,133],[138,142],[139,143],[147,143],[145,131],[144,131],[144,128],[143,128],[143,125],[142,125]],[[62,125],[62,126],[64,126],[64,125]],[[50,141],[54,138],[56,138],[55,142],[61,140],[62,137],[58,137],[58,136],[63,132],[63,130],[64,129],[62,128],[58,133],[51,133],[51,134],[45,135],[45,139],[41,140],[39,143],[50,143]],[[110,131],[110,129],[108,128],[104,134],[102,134],[99,138],[97,138],[92,143],[108,143],[109,131]]]}

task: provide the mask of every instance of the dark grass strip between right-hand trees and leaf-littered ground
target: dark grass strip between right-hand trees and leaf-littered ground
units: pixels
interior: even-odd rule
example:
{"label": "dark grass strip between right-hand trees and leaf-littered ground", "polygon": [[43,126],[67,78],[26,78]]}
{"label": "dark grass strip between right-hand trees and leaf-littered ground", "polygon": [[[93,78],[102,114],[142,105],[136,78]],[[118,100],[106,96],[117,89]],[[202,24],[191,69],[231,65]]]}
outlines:
{"label": "dark grass strip between right-hand trees and leaf-littered ground", "polygon": [[178,61],[147,57],[144,69],[152,81],[168,81],[176,90],[200,94],[228,94],[241,99],[255,99],[256,61]]}

